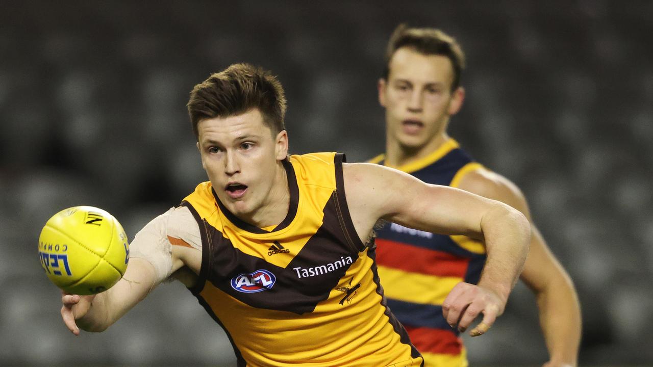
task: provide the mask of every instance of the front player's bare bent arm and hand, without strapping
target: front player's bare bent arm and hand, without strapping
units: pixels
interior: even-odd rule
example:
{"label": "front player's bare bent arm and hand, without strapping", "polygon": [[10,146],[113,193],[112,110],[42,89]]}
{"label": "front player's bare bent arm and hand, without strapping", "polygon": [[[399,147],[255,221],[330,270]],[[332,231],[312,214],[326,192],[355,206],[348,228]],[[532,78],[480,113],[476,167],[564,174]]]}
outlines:
{"label": "front player's bare bent arm and hand, without strapping", "polygon": [[483,313],[483,323],[470,334],[486,332],[503,313],[522,271],[530,241],[526,217],[501,202],[430,185],[379,165],[345,164],[343,177],[349,211],[363,239],[377,219],[387,219],[421,231],[485,240],[487,261],[479,285],[456,285],[443,303],[443,313],[460,330]]}

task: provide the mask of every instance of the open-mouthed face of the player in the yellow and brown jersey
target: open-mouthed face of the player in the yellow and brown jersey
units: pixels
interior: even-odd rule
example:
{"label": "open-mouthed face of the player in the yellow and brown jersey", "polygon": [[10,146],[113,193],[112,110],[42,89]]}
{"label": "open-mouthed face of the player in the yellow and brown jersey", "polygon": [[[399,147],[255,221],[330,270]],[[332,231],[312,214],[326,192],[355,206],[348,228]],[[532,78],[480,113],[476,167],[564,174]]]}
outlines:
{"label": "open-mouthed face of the player in the yellow and brown jersey", "polygon": [[278,161],[288,152],[286,131],[273,135],[258,109],[202,120],[197,131],[202,167],[229,211],[246,218],[268,204]]}

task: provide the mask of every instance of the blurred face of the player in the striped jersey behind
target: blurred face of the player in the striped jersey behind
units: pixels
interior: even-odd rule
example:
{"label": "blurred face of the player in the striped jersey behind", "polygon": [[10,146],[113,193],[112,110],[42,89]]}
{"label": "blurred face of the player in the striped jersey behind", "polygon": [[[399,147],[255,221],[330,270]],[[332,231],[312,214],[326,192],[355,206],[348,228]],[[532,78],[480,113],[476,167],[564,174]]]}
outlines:
{"label": "blurred face of the player in the striped jersey behind", "polygon": [[387,138],[404,148],[420,149],[445,132],[449,116],[460,110],[464,90],[451,93],[454,71],[446,56],[399,48],[389,71],[388,80],[379,80]]}

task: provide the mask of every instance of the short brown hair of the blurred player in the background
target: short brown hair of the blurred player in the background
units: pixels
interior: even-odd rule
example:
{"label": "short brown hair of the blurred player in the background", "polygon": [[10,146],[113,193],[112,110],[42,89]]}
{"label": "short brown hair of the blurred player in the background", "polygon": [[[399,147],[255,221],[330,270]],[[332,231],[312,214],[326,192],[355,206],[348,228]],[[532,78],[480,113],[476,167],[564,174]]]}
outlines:
{"label": "short brown hair of the blurred player in the background", "polygon": [[400,24],[388,42],[385,51],[385,69],[383,79],[387,80],[390,74],[390,59],[396,50],[402,47],[409,47],[424,55],[441,55],[451,60],[453,65],[453,83],[451,91],[460,86],[460,76],[465,69],[465,54],[456,40],[435,28],[409,28],[406,24]]}

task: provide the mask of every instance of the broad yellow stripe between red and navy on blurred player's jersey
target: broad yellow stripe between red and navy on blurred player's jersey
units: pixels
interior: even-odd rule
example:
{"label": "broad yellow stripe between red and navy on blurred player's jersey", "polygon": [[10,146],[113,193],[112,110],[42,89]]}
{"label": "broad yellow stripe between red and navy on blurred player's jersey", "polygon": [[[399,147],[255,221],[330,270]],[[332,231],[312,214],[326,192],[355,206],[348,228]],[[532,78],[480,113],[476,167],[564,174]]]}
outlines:
{"label": "broad yellow stripe between red and navy on blurred player's jersey", "polygon": [[419,304],[440,306],[453,287],[464,281],[454,276],[432,276],[428,274],[405,272],[404,270],[377,266],[382,284],[401,285],[384,287],[383,293],[388,298]]}

